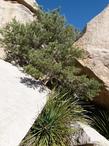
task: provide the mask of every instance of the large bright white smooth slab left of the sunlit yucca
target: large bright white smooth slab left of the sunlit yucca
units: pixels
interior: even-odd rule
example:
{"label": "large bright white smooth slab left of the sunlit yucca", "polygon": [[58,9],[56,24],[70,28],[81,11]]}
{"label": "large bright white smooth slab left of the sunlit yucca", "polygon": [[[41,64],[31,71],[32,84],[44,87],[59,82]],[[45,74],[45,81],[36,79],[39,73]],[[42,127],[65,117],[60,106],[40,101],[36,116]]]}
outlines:
{"label": "large bright white smooth slab left of the sunlit yucca", "polygon": [[0,60],[0,146],[18,146],[43,109],[48,90]]}

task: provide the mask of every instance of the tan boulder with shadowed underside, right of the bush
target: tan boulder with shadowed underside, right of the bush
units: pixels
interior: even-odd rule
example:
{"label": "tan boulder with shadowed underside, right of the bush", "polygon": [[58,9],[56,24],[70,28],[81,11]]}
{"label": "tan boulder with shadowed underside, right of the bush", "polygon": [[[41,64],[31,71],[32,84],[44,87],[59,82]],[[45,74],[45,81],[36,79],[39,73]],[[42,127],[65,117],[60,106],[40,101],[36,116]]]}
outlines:
{"label": "tan boulder with shadowed underside, right of the bush", "polygon": [[109,5],[87,24],[74,45],[87,52],[87,57],[79,60],[84,71],[104,84],[95,101],[109,107]]}

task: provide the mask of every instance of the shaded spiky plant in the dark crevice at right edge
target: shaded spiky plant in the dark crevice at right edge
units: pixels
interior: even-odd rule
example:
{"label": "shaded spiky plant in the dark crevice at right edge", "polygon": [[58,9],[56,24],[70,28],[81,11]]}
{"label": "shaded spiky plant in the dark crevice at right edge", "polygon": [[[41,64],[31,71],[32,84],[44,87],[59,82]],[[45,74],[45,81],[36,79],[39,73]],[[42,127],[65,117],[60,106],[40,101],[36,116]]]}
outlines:
{"label": "shaded spiky plant in the dark crevice at right edge", "polygon": [[89,106],[87,111],[90,113],[89,120],[92,127],[109,139],[109,110],[93,104]]}

